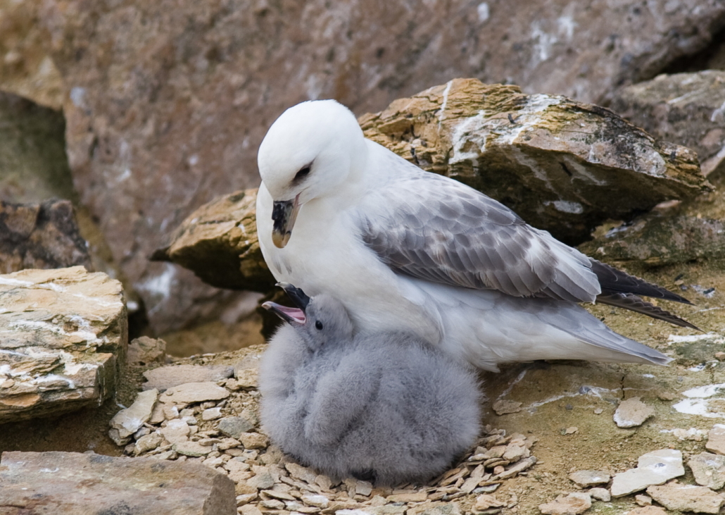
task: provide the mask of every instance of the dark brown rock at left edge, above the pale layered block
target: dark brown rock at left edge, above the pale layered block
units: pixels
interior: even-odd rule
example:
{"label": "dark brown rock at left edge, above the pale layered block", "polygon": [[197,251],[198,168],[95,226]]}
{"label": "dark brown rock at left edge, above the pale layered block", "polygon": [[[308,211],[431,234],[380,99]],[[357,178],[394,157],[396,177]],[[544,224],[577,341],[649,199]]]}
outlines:
{"label": "dark brown rock at left edge, above the pale layered block", "polygon": [[0,273],[23,268],[91,268],[68,200],[10,204],[0,200]]}

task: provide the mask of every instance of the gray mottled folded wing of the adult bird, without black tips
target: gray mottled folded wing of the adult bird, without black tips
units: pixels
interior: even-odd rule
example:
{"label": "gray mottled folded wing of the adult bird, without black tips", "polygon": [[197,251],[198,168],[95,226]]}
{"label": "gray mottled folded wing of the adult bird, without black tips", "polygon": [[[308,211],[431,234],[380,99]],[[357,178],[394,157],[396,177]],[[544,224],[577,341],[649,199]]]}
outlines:
{"label": "gray mottled folded wing of the adult bird, without black tips", "polygon": [[600,294],[581,252],[465,184],[413,165],[401,171],[360,211],[365,244],[397,273],[515,297],[593,302]]}

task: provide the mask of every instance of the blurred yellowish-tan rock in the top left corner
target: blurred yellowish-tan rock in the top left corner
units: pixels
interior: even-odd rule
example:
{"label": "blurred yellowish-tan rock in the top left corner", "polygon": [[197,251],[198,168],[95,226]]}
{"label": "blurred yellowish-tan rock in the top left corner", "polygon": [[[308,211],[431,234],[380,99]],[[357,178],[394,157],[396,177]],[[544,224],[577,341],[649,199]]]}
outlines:
{"label": "blurred yellowish-tan rock in the top left corner", "polygon": [[41,6],[0,0],[0,90],[60,110],[63,79],[49,54],[49,33],[38,22]]}

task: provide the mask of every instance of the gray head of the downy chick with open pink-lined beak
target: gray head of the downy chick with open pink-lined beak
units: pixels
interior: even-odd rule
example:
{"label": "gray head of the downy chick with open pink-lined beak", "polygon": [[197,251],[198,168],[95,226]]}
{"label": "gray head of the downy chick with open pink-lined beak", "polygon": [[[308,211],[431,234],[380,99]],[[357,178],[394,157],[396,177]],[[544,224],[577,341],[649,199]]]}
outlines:
{"label": "gray head of the downy chick with open pink-lined beak", "polygon": [[352,321],[339,300],[328,294],[307,297],[289,283],[278,283],[297,308],[287,308],[276,302],[265,302],[262,308],[275,313],[290,324],[302,337],[307,348],[318,350],[326,345],[344,345],[352,339]]}

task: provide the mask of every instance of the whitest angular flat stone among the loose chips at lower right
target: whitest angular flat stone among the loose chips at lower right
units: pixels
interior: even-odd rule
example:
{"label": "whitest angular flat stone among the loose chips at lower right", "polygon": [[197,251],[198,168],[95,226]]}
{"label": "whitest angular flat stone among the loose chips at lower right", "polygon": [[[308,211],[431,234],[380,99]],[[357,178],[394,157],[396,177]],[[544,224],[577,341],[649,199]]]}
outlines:
{"label": "whitest angular flat stone among the loose chips at lower right", "polygon": [[621,497],[645,490],[650,485],[662,485],[683,474],[682,452],[673,449],[655,450],[639,456],[636,469],[616,474],[610,491],[613,497]]}

